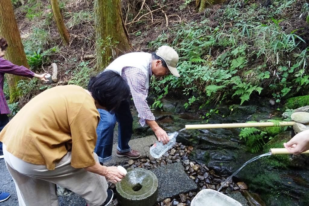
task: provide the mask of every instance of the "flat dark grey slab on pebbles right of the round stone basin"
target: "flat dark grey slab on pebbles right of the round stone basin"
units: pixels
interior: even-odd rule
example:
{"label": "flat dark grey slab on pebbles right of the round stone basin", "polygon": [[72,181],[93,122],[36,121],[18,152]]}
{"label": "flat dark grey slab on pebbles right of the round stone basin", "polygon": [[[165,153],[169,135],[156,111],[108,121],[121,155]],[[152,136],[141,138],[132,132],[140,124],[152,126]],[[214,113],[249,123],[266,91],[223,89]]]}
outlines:
{"label": "flat dark grey slab on pebbles right of the round stone basin", "polygon": [[184,166],[180,162],[167,164],[151,170],[158,178],[158,201],[165,200],[190,190],[197,190],[197,184],[184,172]]}

